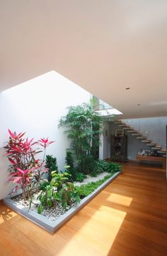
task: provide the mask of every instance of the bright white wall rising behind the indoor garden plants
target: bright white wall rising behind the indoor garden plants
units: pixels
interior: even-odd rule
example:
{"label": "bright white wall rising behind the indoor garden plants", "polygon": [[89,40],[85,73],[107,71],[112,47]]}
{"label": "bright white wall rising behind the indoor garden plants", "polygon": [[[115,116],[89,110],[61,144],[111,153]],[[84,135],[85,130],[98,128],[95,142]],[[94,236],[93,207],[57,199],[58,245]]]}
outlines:
{"label": "bright white wall rising behind the indoor garden plants", "polygon": [[90,100],[90,93],[59,73],[51,71],[24,82],[0,94],[0,199],[11,190],[6,184],[8,161],[3,156],[3,146],[11,131],[26,132],[29,138],[49,137],[55,143],[47,148],[47,154],[57,156],[59,169],[63,169],[65,150],[69,142],[62,128],[60,117],[67,113],[69,105]]}

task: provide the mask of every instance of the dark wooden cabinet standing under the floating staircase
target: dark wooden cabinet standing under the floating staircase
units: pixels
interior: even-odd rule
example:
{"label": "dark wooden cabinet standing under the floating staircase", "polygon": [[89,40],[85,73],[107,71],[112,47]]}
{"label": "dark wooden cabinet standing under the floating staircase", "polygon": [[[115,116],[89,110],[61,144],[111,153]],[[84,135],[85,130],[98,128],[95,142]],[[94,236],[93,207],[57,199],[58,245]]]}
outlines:
{"label": "dark wooden cabinet standing under the floating staircase", "polygon": [[111,152],[110,158],[113,161],[127,160],[127,135],[111,136]]}

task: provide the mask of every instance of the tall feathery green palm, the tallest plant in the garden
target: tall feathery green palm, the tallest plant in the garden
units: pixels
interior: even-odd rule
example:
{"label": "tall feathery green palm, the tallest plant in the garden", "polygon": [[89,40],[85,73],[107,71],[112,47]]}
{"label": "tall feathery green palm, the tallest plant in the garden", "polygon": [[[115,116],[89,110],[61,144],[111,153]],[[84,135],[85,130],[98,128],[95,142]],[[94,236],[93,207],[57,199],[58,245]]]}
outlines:
{"label": "tall feathery green palm, the tallest plant in the garden", "polygon": [[69,107],[66,117],[63,117],[59,126],[67,127],[65,133],[71,140],[71,149],[74,151],[76,165],[79,171],[88,174],[93,159],[97,156],[102,134],[103,117],[98,114],[93,104]]}

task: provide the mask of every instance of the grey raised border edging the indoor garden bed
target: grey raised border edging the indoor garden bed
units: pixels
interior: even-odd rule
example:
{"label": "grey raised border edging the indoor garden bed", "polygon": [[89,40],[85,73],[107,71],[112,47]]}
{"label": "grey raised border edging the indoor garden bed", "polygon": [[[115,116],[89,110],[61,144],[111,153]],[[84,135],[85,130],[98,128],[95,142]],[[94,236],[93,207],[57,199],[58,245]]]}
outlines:
{"label": "grey raised border edging the indoor garden bed", "polygon": [[82,199],[80,203],[76,204],[76,206],[69,209],[67,213],[64,213],[64,215],[61,215],[57,220],[52,220],[52,221],[48,220],[45,216],[42,216],[39,213],[35,213],[32,210],[28,210],[24,206],[16,205],[16,202],[14,202],[11,198],[4,198],[4,203],[6,204],[6,206],[11,208],[12,210],[15,210],[16,213],[23,215],[23,217],[27,218],[28,220],[31,220],[33,223],[39,225],[42,228],[45,228],[45,230],[54,234],[62,225],[64,225],[64,223],[67,222],[67,220],[69,220],[79,210],[81,210],[81,208],[83,208],[98,193],[100,193],[100,191],[102,191],[103,188],[108,186],[108,184],[111,181],[113,181],[115,178],[117,178],[117,176],[119,176],[121,173],[122,171],[118,171],[112,177],[108,178],[108,180],[102,183],[98,188],[96,188],[95,191],[93,191],[90,195]]}

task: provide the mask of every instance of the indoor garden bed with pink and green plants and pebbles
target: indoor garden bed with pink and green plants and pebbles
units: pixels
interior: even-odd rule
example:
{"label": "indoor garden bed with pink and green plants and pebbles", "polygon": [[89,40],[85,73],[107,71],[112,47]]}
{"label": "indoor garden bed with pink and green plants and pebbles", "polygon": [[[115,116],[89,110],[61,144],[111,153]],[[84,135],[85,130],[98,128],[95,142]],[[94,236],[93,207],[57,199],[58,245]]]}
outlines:
{"label": "indoor garden bed with pink and green plants and pebbles", "polygon": [[98,159],[104,123],[92,103],[69,107],[67,115],[59,120],[59,128],[65,127],[64,136],[71,142],[63,171],[57,166],[56,156],[47,154],[53,141],[42,138],[34,142],[25,133],[8,129],[5,149],[10,163],[8,181],[15,184],[12,200],[57,220],[121,171],[120,164]]}

